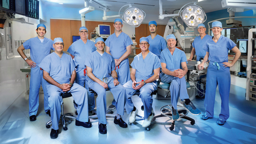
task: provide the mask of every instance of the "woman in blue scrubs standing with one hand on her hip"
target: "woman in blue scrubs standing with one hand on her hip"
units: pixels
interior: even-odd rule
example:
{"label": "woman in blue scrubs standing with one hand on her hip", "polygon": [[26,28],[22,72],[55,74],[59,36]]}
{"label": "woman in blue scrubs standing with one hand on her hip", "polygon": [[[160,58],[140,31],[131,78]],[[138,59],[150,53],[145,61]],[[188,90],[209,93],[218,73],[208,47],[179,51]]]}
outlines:
{"label": "woman in blue scrubs standing with one hand on her hip", "polygon": [[[222,24],[220,21],[212,22],[213,37],[208,39],[203,49],[206,50],[206,55],[199,69],[204,68],[204,63],[210,60],[206,76],[206,93],[204,100],[205,114],[201,116],[203,120],[213,118],[214,102],[217,85],[221,97],[221,112],[217,124],[223,125],[229,117],[228,97],[230,91],[230,67],[233,67],[241,52],[236,47],[236,44],[229,38],[221,35]],[[235,52],[234,60],[228,62],[228,50]]]}

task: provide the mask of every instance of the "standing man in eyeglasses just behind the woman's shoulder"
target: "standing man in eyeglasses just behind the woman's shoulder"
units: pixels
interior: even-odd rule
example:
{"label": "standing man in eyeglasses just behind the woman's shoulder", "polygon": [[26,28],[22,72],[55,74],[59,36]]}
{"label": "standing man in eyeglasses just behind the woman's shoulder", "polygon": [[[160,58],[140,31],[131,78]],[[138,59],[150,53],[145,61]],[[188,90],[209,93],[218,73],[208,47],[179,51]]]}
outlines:
{"label": "standing man in eyeglasses just behind the woman's shoulder", "polygon": [[188,59],[190,61],[193,59],[195,53],[196,53],[196,61],[200,61],[200,58],[204,59],[206,51],[203,49],[203,45],[206,42],[206,40],[212,38],[212,36],[209,36],[205,33],[206,28],[205,28],[205,25],[202,23],[197,26],[197,31],[199,32],[200,36],[197,36],[194,42],[192,43],[193,49]]}

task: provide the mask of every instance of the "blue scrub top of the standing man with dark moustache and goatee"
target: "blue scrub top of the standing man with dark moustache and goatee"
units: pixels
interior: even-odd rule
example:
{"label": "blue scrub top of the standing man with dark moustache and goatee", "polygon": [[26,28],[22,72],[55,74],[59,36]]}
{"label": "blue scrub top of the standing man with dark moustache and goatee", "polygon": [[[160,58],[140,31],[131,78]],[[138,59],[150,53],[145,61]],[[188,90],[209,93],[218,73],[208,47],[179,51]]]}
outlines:
{"label": "blue scrub top of the standing man with dark moustache and goatee", "polygon": [[156,35],[156,37],[152,39],[149,35],[147,38],[149,40],[149,51],[157,55],[160,59],[161,52],[167,47],[164,37]]}

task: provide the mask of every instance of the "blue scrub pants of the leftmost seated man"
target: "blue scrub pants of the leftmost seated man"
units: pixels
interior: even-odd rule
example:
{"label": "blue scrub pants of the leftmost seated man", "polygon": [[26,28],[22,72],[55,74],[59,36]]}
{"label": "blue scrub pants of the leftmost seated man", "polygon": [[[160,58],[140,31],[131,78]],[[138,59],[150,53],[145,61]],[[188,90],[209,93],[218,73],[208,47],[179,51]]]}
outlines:
{"label": "blue scrub pants of the leftmost seated man", "polygon": [[[59,120],[61,113],[61,104],[63,103],[61,93],[64,93],[60,88],[55,85],[48,84],[47,90],[49,94],[48,104],[51,108],[52,129],[59,129]],[[71,87],[71,92],[77,104],[77,120],[80,122],[88,122],[88,92],[79,84],[74,83]]]}

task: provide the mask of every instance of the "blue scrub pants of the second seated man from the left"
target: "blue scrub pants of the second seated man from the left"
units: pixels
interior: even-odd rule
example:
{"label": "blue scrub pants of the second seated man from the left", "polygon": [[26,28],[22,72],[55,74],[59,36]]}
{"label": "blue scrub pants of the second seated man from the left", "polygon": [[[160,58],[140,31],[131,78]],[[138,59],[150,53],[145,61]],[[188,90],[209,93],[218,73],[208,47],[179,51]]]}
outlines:
{"label": "blue scrub pants of the second seated man from the left", "polygon": [[[102,81],[102,78],[100,79]],[[114,78],[108,77],[108,89],[113,94],[114,99],[116,100],[116,111],[118,115],[124,115],[124,105],[126,100],[125,88],[122,84],[114,85]],[[106,81],[104,81],[106,82]],[[106,101],[106,90],[100,84],[90,81],[89,87],[98,94],[96,99],[96,106],[97,106],[97,116],[99,122],[101,124],[107,124],[106,119],[106,110],[107,110],[107,101]]]}

